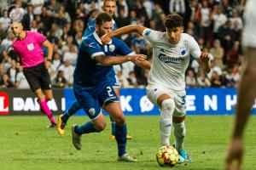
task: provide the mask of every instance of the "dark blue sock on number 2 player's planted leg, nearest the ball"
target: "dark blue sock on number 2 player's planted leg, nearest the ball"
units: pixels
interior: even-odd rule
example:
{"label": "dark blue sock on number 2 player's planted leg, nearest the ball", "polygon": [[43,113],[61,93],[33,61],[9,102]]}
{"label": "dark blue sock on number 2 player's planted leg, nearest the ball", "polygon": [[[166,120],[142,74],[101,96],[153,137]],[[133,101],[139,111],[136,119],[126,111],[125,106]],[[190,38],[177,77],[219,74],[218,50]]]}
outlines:
{"label": "dark blue sock on number 2 player's planted leg, nearest the ball", "polygon": [[118,154],[122,156],[126,153],[126,124],[125,125],[115,125],[115,139],[118,144]]}

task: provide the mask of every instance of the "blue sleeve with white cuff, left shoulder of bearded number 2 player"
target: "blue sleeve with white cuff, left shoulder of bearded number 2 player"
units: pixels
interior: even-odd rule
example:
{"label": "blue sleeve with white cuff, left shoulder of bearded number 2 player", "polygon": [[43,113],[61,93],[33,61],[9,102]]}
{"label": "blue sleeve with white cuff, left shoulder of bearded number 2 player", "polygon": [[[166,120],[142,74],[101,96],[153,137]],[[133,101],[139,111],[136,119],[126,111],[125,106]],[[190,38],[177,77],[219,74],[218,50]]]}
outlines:
{"label": "blue sleeve with white cuff, left shoulder of bearded number 2 player", "polygon": [[94,59],[96,55],[105,55],[102,48],[97,44],[95,39],[92,38],[85,38],[79,48],[88,54],[91,59]]}

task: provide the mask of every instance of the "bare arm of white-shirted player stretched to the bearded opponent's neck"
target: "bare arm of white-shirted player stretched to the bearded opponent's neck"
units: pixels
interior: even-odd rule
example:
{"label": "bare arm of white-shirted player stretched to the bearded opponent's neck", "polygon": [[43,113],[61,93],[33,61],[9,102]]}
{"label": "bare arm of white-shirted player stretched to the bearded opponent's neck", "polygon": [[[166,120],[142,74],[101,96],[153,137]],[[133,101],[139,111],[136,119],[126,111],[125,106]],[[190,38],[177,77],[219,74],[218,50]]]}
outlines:
{"label": "bare arm of white-shirted player stretched to the bearded opponent's neck", "polygon": [[138,26],[138,25],[130,25],[130,26],[124,26],[122,28],[119,28],[115,31],[109,32],[108,34],[105,34],[101,37],[102,43],[106,44],[111,41],[111,37],[119,37],[123,34],[130,34],[133,32],[137,32],[139,35],[143,36],[143,31],[146,29],[144,26]]}

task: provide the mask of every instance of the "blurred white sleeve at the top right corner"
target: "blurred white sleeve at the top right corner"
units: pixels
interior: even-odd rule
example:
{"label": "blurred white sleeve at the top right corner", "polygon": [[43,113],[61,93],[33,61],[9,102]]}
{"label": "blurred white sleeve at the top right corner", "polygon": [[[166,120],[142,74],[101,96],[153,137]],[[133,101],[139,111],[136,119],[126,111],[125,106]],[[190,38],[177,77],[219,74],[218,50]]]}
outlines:
{"label": "blurred white sleeve at the top right corner", "polygon": [[248,0],[244,12],[245,26],[242,35],[244,46],[256,48],[256,1]]}

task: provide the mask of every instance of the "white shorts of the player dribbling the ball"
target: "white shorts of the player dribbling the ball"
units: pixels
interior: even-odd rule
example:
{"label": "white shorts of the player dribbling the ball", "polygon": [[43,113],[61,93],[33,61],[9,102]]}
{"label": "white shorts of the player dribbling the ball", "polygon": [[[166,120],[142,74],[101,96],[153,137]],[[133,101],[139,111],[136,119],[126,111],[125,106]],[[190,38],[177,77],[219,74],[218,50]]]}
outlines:
{"label": "white shorts of the player dribbling the ball", "polygon": [[148,99],[160,108],[157,104],[157,99],[161,94],[169,94],[175,102],[175,109],[173,116],[181,117],[186,115],[186,91],[172,91],[167,88],[160,88],[159,86],[148,86],[147,87],[147,97]]}

